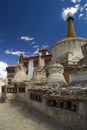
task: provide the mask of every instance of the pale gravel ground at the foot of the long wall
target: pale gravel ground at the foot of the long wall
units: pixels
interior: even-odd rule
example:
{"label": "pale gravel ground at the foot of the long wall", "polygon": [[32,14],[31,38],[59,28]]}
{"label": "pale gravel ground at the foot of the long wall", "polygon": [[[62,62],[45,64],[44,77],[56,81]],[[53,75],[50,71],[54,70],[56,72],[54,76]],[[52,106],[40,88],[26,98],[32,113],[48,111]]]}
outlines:
{"label": "pale gravel ground at the foot of the long wall", "polygon": [[0,130],[61,130],[52,119],[46,118],[26,105],[0,103]]}

